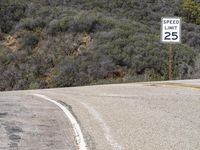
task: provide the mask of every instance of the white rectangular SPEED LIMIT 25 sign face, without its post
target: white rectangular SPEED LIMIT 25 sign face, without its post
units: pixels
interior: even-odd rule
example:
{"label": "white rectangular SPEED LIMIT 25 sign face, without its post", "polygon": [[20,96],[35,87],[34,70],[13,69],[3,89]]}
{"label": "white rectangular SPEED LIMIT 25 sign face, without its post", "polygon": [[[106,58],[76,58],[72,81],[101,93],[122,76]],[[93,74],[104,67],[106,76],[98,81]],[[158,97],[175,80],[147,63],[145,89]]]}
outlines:
{"label": "white rectangular SPEED LIMIT 25 sign face, without its post", "polygon": [[181,18],[179,17],[162,18],[161,42],[181,43]]}

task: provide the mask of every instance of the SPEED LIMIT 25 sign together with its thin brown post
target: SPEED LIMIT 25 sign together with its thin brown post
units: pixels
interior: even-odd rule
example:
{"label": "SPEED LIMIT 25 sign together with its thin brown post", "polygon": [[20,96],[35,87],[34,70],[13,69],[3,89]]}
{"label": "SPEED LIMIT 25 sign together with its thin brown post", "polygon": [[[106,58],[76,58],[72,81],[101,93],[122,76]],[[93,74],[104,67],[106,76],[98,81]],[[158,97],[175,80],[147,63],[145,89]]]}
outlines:
{"label": "SPEED LIMIT 25 sign together with its thin brown post", "polygon": [[173,79],[172,44],[181,43],[181,18],[163,17],[161,20],[161,42],[169,43],[168,79]]}

